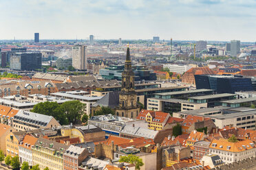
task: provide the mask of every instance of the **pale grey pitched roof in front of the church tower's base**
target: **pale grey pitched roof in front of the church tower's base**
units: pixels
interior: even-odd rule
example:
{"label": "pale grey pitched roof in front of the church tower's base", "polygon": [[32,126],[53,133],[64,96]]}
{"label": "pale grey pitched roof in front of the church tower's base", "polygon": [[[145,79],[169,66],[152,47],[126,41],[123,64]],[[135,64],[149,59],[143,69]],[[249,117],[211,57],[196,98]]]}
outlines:
{"label": "pale grey pitched roof in front of the church tower's base", "polygon": [[132,125],[125,125],[125,127],[123,127],[123,129],[121,130],[121,133],[154,139],[156,138],[158,131],[149,130],[142,127],[133,127]]}

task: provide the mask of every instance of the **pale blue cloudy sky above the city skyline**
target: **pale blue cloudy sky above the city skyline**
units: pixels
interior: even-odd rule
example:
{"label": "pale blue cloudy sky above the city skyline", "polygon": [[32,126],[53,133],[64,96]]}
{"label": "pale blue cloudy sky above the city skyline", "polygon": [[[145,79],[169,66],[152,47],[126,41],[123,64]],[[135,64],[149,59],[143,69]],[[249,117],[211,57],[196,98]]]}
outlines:
{"label": "pale blue cloudy sky above the city skyline", "polygon": [[0,39],[256,41],[256,0],[0,0]]}

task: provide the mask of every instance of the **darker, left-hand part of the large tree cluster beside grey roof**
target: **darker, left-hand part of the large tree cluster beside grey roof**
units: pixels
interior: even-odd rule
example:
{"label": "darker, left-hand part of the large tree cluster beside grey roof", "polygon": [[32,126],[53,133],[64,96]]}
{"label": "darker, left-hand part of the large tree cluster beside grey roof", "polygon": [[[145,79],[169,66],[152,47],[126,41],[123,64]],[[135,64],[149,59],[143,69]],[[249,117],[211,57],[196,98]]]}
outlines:
{"label": "darker, left-hand part of the large tree cluster beside grey roof", "polygon": [[36,112],[39,114],[45,114],[48,116],[54,117],[61,125],[69,124],[67,117],[61,110],[61,106],[57,102],[45,101],[39,104],[36,104],[34,108],[31,110],[32,112]]}

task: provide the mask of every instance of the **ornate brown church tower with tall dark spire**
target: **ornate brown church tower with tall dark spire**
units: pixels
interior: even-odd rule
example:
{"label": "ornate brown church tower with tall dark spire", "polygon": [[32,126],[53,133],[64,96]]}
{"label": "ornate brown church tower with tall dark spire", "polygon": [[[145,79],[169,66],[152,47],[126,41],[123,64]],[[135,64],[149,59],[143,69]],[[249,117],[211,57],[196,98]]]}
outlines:
{"label": "ornate brown church tower with tall dark spire", "polygon": [[131,56],[129,45],[125,60],[125,69],[122,71],[122,90],[119,93],[119,106],[116,108],[116,116],[136,119],[140,112],[137,104],[137,95],[134,90],[134,71],[131,69]]}

